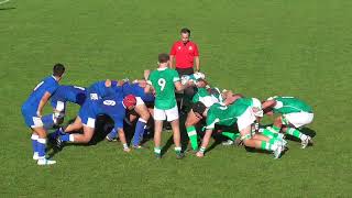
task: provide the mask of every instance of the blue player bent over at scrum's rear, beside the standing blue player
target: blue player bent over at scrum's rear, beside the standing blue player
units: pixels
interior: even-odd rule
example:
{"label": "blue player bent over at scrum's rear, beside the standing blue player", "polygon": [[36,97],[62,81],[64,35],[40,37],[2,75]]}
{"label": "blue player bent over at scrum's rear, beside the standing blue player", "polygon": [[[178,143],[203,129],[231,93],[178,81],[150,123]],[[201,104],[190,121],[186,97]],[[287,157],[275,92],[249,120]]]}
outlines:
{"label": "blue player bent over at scrum's rear, beside the standing blue player", "polygon": [[52,129],[64,122],[66,103],[73,102],[82,106],[86,101],[87,91],[84,87],[78,86],[59,86],[51,98],[51,105],[54,112],[42,118],[44,128]]}

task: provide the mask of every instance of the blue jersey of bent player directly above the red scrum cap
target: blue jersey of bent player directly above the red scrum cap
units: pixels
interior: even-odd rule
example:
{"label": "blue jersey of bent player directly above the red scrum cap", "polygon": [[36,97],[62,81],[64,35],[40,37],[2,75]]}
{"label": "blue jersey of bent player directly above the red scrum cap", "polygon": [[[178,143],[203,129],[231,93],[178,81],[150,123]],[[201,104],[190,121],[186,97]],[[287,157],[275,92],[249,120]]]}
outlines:
{"label": "blue jersey of bent player directly above the red scrum cap", "polygon": [[140,97],[145,102],[152,102],[155,100],[155,97],[152,94],[145,94],[144,88],[139,84],[125,82],[122,86],[123,97],[128,95],[134,95],[135,97]]}

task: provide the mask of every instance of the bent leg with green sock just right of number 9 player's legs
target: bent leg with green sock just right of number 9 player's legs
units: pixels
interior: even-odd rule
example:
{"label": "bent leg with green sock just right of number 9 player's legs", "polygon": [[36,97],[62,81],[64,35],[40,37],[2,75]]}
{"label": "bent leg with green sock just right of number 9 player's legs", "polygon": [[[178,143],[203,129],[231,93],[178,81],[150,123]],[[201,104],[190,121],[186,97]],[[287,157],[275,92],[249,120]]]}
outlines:
{"label": "bent leg with green sock just right of number 9 player's legs", "polygon": [[190,110],[187,114],[185,125],[186,125],[187,135],[189,138],[193,151],[198,150],[198,136],[197,136],[197,130],[196,130],[195,125],[199,121],[200,121],[200,119],[196,116],[196,113],[193,110]]}

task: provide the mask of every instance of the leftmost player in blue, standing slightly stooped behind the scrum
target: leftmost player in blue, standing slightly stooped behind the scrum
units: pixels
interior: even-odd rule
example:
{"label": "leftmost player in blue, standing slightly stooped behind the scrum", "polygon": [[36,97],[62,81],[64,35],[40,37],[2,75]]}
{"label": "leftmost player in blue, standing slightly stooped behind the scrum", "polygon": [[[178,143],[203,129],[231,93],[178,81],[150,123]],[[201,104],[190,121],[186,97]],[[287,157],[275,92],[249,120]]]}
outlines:
{"label": "leftmost player in blue, standing slightly stooped behind the scrum", "polygon": [[45,158],[46,130],[43,127],[42,110],[58,88],[58,81],[62,79],[64,73],[64,65],[54,65],[53,76],[44,78],[22,106],[22,114],[25,123],[32,130],[33,160],[37,161],[38,165],[56,163],[55,161]]}

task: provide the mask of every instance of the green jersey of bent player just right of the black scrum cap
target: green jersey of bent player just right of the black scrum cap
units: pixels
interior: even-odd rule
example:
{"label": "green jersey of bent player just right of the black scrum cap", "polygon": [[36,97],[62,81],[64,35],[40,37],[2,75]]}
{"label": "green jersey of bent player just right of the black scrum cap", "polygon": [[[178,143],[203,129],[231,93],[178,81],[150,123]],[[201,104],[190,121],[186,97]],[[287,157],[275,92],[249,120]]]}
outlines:
{"label": "green jersey of bent player just right of the black scrum cap", "polygon": [[228,127],[234,124],[249,107],[243,103],[233,103],[228,107],[220,103],[212,105],[207,113],[207,129],[212,130],[216,124]]}

